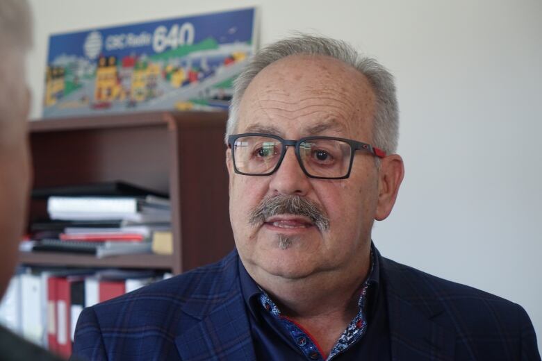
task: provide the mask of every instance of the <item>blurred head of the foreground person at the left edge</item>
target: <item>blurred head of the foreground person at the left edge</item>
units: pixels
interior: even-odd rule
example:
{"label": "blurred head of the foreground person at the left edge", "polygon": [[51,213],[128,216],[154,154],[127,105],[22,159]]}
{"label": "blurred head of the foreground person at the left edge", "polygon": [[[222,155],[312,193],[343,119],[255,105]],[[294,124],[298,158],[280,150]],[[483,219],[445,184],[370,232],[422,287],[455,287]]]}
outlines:
{"label": "blurred head of the foreground person at the left edge", "polygon": [[0,296],[17,264],[31,184],[24,72],[31,42],[26,0],[0,0]]}

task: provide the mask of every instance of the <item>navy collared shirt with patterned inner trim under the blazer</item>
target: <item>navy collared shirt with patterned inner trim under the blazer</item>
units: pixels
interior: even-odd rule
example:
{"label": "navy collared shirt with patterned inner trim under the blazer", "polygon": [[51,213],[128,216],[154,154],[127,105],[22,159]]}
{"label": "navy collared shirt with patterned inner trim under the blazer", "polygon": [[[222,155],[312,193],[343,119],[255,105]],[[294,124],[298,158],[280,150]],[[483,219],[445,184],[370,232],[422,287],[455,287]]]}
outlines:
{"label": "navy collared shirt with patterned inner trim under the blazer", "polygon": [[[374,254],[372,252],[372,254]],[[390,360],[388,311],[378,258],[363,283],[359,313],[352,319],[329,355],[302,325],[284,317],[277,305],[249,276],[239,261],[241,291],[248,309],[254,351],[258,360]]]}

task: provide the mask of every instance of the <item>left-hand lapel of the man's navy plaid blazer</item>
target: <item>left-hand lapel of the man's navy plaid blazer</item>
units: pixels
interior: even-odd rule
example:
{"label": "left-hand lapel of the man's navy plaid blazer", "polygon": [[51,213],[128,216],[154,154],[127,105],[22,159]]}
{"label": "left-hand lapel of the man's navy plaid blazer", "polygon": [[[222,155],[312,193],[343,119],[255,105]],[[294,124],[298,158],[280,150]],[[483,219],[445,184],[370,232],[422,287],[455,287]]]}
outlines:
{"label": "left-hand lapel of the man's navy plaid blazer", "polygon": [[[221,276],[213,280],[213,292],[208,291],[213,308],[198,296],[183,309],[200,321],[175,337],[181,360],[256,360],[237,267],[237,262],[229,262]],[[225,287],[226,293],[217,299],[216,294]]]}

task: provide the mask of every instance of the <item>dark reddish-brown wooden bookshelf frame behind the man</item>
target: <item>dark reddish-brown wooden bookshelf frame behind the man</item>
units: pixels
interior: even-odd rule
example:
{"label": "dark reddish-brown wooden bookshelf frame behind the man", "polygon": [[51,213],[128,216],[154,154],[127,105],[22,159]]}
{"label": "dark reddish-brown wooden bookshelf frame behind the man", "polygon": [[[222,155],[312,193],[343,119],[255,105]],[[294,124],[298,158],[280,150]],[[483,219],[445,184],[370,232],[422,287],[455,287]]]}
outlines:
{"label": "dark reddish-brown wooden bookshelf frame behind the man", "polygon": [[[174,253],[97,259],[20,253],[24,265],[170,269],[219,260],[233,249],[224,160],[225,112],[144,112],[30,124],[34,187],[125,181],[170,194]],[[33,200],[30,220],[46,215]]]}

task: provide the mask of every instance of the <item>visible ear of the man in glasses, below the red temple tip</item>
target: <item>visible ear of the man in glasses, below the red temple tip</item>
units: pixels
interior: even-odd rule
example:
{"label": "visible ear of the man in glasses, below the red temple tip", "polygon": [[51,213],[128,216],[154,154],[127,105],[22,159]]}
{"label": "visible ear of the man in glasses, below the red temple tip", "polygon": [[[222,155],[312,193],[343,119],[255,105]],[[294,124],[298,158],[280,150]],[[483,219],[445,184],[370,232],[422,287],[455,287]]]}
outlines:
{"label": "visible ear of the man in glasses, below the red temple tip", "polygon": [[375,219],[382,221],[390,215],[404,176],[401,156],[391,154],[380,160],[378,203]]}

